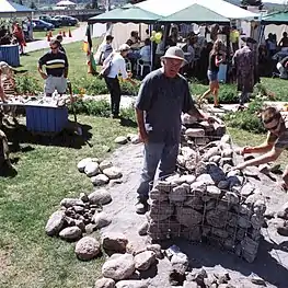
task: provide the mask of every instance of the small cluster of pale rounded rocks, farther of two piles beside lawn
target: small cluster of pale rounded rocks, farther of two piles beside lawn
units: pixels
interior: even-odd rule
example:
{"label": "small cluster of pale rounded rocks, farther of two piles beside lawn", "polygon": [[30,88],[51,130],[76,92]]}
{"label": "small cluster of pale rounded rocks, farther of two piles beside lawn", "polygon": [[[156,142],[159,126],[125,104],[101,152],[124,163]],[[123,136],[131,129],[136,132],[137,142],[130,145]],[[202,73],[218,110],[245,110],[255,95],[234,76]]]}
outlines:
{"label": "small cluster of pale rounded rocks, farther of two piles beside lawn", "polygon": [[111,180],[123,176],[120,169],[114,166],[108,160],[100,161],[96,158],[85,158],[78,163],[77,168],[91,178],[94,186],[106,185]]}

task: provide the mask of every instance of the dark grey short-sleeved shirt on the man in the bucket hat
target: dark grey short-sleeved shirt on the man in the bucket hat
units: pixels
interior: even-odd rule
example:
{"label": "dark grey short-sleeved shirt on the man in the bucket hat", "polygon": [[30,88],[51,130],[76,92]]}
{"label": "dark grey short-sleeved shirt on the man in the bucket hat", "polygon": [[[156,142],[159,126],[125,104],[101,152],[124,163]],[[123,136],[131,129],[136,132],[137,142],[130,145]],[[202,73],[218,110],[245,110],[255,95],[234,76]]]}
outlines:
{"label": "dark grey short-sleeved shirt on the man in the bucket hat", "polygon": [[194,101],[185,78],[168,78],[160,68],[142,81],[136,107],[145,112],[149,141],[176,143],[180,141],[181,114],[194,107]]}

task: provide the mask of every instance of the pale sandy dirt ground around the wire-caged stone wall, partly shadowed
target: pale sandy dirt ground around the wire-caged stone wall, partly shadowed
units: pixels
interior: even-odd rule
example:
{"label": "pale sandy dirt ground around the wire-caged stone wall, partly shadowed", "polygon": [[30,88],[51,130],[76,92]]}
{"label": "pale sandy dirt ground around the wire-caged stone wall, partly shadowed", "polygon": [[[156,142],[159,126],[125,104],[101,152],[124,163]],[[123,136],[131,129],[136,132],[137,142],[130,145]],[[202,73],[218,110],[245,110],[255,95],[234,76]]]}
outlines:
{"label": "pale sandy dirt ground around the wire-caged stone wall, partly shadowed", "polygon": [[[145,220],[145,216],[135,212],[136,189],[142,164],[142,146],[127,145],[117,149],[111,157],[113,163],[123,170],[123,183],[114,184],[108,189],[113,201],[104,210],[113,215],[113,222],[102,232],[119,231],[125,233],[130,243],[140,250],[147,243],[146,237],[139,237],[137,229]],[[281,204],[288,200],[288,195],[275,188],[275,182],[265,175],[261,181],[254,181],[267,200],[269,210],[277,211]],[[185,241],[173,242],[189,256],[192,267],[204,267],[207,272],[220,273],[226,269],[231,276],[231,284],[237,287],[253,288],[249,276],[257,275],[263,278],[267,287],[288,288],[288,238],[280,237],[273,220],[268,229],[263,229],[258,256],[253,264],[249,264],[218,247],[207,244],[192,244]],[[171,244],[171,243],[170,243]],[[157,270],[147,272],[143,277],[149,278],[149,287],[171,287],[168,280],[169,261],[160,261]]]}

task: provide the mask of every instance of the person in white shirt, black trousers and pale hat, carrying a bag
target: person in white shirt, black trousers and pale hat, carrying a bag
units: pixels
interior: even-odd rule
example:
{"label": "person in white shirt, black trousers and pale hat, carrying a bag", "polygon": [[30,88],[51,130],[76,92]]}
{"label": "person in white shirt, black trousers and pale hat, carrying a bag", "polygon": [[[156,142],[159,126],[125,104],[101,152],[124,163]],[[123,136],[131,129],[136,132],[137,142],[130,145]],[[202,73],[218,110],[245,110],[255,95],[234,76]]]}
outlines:
{"label": "person in white shirt, black trousers and pale hat, carrying a bag", "polygon": [[111,110],[112,117],[119,117],[119,106],[120,106],[120,84],[118,80],[118,74],[122,74],[122,78],[126,81],[129,81],[131,84],[136,84],[133,81],[126,70],[125,57],[127,56],[130,47],[127,44],[120,45],[117,53],[113,53],[104,61],[104,66],[111,65],[108,74],[104,78],[107,89],[111,94]]}

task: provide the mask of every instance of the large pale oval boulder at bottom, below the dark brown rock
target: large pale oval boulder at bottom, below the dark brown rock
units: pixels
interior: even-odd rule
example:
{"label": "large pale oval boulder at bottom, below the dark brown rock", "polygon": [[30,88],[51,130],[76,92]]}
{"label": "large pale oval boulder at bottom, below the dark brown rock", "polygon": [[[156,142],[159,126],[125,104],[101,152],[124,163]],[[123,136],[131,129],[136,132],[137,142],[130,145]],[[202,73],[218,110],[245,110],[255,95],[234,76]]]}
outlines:
{"label": "large pale oval boulder at bottom, below the dark brown rock", "polygon": [[135,261],[131,254],[114,254],[102,266],[102,274],[113,280],[129,278],[135,272]]}

